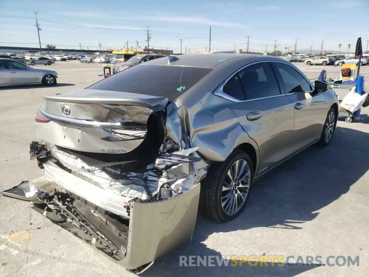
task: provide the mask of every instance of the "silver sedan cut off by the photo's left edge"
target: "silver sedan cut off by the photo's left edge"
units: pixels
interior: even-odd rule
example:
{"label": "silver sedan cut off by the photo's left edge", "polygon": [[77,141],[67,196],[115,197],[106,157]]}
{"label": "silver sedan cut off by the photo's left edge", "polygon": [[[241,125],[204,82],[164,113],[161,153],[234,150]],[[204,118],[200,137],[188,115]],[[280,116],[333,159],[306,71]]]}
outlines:
{"label": "silver sedan cut off by the photo's left edge", "polygon": [[16,59],[0,58],[0,86],[56,84],[58,73],[52,70],[31,68]]}

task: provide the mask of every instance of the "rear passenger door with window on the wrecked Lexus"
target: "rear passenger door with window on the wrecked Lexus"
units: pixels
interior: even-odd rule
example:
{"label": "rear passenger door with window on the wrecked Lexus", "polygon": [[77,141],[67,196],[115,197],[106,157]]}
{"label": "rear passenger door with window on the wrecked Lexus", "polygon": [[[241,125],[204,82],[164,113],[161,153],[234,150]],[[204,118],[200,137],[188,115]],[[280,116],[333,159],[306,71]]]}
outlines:
{"label": "rear passenger door with window on the wrecked Lexus", "polygon": [[230,107],[239,123],[259,146],[258,173],[286,158],[294,110],[281,93],[270,63],[256,62],[239,70],[226,80],[223,93],[234,102]]}

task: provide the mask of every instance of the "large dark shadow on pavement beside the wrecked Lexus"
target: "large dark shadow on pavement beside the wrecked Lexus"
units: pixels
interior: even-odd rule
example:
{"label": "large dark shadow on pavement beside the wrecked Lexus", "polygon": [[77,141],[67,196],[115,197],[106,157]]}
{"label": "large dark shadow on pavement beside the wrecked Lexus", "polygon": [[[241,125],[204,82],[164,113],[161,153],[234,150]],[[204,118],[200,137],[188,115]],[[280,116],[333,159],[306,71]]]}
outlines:
{"label": "large dark shadow on pavement beside the wrecked Lexus", "polygon": [[[263,227],[284,229],[285,236],[288,237],[293,230],[304,229],[304,223],[314,220],[320,213],[317,212],[318,210],[346,194],[351,185],[366,173],[369,168],[368,141],[368,133],[337,127],[330,146],[324,148],[313,146],[260,179],[252,189],[245,211],[235,220],[218,224],[199,213],[192,240],[175,252],[157,259],[140,276],[236,276],[240,274],[240,276],[289,277],[316,269],[318,266],[316,264],[315,266],[305,266],[301,263],[271,266],[270,260],[268,266],[249,266],[248,263],[235,266],[237,260],[229,260],[230,257],[225,257],[227,259],[224,260],[229,262],[228,266],[218,266],[217,261],[215,266],[202,264],[180,266],[180,256],[215,256],[216,259],[221,259],[220,252],[208,248],[204,243],[215,233]],[[231,244],[231,237],[229,239]],[[265,238],[266,241],[268,239],[270,238]],[[227,244],[227,237],[223,236],[221,243],[223,246]],[[252,245],[252,237],[249,237],[244,240],[245,253],[228,254],[247,255],[248,248],[252,248]],[[299,249],[296,249],[296,252],[301,256],[311,254],[299,253]],[[252,254],[262,255],[261,252]],[[290,253],[266,253],[266,255],[279,254]],[[324,264],[323,259],[322,261]]]}

